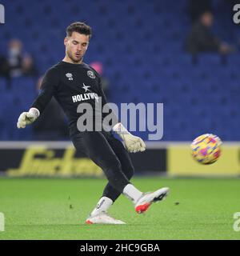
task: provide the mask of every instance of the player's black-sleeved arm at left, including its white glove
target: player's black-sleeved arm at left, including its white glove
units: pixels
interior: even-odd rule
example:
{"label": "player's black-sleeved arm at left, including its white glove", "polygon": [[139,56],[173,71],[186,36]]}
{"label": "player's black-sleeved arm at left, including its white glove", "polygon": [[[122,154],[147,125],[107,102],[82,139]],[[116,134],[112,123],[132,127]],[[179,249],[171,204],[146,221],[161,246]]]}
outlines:
{"label": "player's black-sleeved arm at left, including its white glove", "polygon": [[18,118],[18,129],[33,123],[45,110],[58,86],[58,74],[55,70],[48,70],[42,80],[41,91],[28,112],[22,112]]}

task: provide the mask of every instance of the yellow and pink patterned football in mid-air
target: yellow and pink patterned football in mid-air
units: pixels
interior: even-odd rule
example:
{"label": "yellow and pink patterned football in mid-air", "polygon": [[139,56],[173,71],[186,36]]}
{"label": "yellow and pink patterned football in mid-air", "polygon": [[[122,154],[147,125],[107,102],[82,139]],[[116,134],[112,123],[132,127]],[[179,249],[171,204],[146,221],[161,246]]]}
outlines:
{"label": "yellow and pink patterned football in mid-air", "polygon": [[202,134],[195,138],[191,144],[193,158],[204,165],[218,160],[221,154],[222,141],[214,134]]}

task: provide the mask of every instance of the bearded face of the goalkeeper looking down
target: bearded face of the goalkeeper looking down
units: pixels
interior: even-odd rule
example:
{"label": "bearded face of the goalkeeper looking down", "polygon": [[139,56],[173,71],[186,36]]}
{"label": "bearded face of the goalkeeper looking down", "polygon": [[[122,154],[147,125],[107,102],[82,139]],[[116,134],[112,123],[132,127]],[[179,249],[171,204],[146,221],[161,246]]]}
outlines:
{"label": "bearded face of the goalkeeper looking down", "polygon": [[73,32],[70,37],[64,39],[64,44],[66,46],[66,55],[71,62],[82,62],[89,44],[89,35]]}

